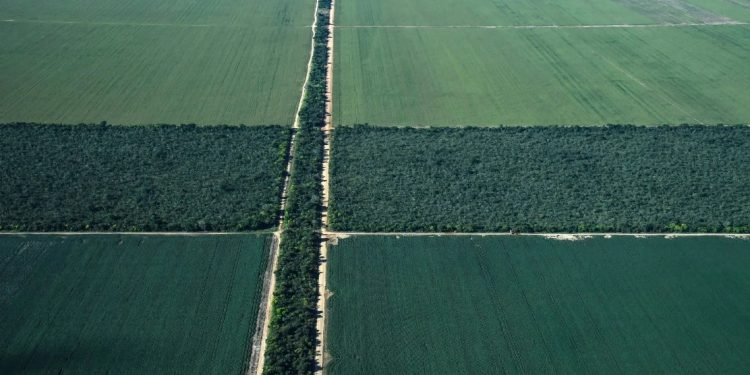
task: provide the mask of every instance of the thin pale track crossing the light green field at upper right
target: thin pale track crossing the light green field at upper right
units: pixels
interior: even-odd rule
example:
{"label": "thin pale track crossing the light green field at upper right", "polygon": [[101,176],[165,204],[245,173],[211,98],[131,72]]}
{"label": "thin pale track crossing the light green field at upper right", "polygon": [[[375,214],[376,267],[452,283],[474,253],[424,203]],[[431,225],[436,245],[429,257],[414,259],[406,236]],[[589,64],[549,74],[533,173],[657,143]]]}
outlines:
{"label": "thin pale track crossing the light green field at upper right", "polygon": [[339,25],[341,29],[637,29],[700,26],[743,26],[749,22],[620,23],[599,25]]}

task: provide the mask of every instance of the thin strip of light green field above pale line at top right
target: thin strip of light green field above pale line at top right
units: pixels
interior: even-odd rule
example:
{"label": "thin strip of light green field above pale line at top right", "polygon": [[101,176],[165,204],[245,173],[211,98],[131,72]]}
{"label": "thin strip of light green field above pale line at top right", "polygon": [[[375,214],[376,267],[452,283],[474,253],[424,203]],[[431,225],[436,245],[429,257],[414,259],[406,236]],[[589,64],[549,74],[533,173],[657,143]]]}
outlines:
{"label": "thin strip of light green field above pale line at top right", "polygon": [[597,25],[750,21],[748,0],[341,0],[336,24]]}

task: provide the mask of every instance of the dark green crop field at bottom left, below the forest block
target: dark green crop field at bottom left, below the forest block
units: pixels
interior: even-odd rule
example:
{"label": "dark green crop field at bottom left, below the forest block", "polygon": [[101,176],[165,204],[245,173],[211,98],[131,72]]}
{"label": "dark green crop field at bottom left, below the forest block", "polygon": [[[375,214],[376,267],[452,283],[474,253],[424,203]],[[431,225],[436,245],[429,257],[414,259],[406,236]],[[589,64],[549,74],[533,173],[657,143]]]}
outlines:
{"label": "dark green crop field at bottom left, below the forest block", "polygon": [[0,236],[0,373],[243,374],[270,236]]}

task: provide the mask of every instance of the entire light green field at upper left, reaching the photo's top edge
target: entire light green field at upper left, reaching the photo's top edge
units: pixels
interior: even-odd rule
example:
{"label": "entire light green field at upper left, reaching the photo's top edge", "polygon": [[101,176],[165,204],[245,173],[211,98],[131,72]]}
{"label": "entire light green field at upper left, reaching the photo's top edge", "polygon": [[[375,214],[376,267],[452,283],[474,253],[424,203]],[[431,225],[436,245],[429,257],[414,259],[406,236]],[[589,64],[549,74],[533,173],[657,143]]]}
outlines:
{"label": "entire light green field at upper left, reaching the photo's top edge", "polygon": [[293,121],[312,0],[0,4],[0,122]]}

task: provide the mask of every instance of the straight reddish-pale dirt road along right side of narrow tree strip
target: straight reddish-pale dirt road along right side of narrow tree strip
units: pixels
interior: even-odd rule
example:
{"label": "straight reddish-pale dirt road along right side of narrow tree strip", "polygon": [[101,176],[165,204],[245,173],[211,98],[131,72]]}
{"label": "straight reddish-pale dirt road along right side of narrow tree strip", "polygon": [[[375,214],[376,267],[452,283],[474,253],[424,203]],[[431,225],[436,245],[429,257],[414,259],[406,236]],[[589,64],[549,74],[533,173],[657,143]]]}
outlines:
{"label": "straight reddish-pale dirt road along right side of narrow tree strip", "polygon": [[328,299],[330,292],[327,287],[328,279],[328,240],[329,238],[325,235],[328,231],[328,197],[330,196],[330,160],[331,160],[331,133],[333,131],[333,37],[334,37],[334,16],[335,16],[335,1],[331,0],[331,9],[329,13],[329,25],[328,25],[328,43],[326,48],[328,49],[328,62],[326,66],[326,119],[325,127],[323,128],[323,167],[322,167],[322,206],[323,212],[321,213],[321,241],[320,241],[320,266],[318,273],[318,311],[320,314],[315,324],[318,331],[317,348],[315,349],[315,357],[318,362],[318,369],[316,374],[325,373],[326,365],[326,346],[325,346],[325,323],[326,323],[326,300]]}

